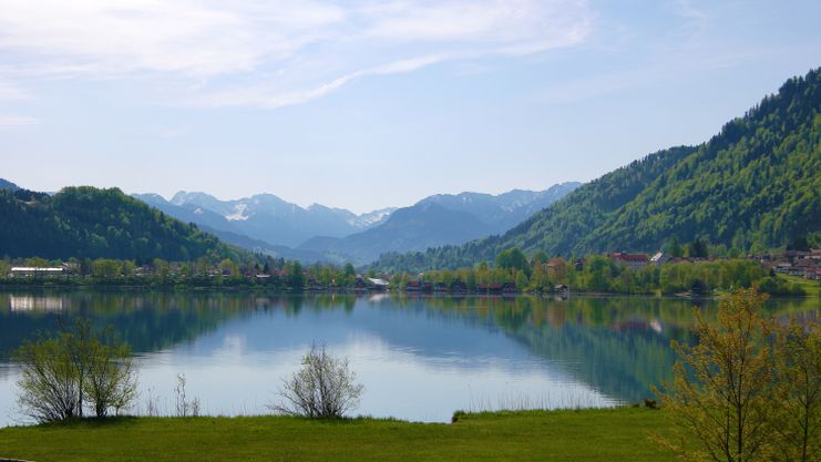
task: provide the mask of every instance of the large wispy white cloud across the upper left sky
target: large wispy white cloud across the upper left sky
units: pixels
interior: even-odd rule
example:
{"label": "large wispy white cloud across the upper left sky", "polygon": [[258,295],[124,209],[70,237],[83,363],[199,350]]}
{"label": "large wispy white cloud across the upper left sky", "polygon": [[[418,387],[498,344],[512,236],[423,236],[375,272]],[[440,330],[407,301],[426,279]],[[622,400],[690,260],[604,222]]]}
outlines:
{"label": "large wispy white cloud across the upper left sky", "polygon": [[196,89],[182,101],[280,107],[369,75],[574,45],[591,27],[586,0],[0,0],[0,58],[21,81],[136,75]]}

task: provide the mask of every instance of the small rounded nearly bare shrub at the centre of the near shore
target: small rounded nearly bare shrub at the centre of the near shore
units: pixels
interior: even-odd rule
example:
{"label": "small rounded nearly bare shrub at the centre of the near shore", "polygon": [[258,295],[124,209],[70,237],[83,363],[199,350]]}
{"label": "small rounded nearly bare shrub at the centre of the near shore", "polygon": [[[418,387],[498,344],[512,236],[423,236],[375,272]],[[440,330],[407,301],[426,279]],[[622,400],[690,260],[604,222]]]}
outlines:
{"label": "small rounded nearly bare shrub at the centre of the near shore", "polygon": [[302,368],[283,379],[278,393],[283,400],[268,408],[287,415],[338,419],[359,405],[363,390],[347,359],[335,358],[324,346],[315,345],[302,357]]}

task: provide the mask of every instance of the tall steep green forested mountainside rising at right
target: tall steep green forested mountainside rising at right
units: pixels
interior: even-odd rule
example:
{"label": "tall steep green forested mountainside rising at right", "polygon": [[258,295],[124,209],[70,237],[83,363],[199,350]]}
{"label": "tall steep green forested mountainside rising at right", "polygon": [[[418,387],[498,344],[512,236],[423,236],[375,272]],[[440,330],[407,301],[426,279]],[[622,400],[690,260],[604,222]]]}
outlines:
{"label": "tall steep green forested mountainside rising at right", "polygon": [[787,81],[709,142],[674,147],[587,183],[503,236],[384,255],[381,268],[492,260],[510,247],[582,255],[654,251],[701,238],[757,251],[821,232],[821,69]]}

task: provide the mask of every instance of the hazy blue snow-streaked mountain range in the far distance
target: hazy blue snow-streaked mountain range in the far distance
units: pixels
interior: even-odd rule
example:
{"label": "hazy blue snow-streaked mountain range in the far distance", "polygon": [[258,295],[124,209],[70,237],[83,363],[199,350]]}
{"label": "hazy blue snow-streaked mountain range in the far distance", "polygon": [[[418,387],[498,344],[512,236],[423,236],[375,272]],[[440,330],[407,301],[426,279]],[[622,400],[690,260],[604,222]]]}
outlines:
{"label": "hazy blue snow-streaked mountain range in the far distance", "polygon": [[420,250],[502,233],[578,185],[563,183],[546,191],[515,189],[496,196],[439,194],[410,207],[361,215],[318,204],[302,208],[271,194],[236,201],[187,192],[171,201],[156,194],[134,197],[249,250],[304,261],[366,264],[384,251]]}

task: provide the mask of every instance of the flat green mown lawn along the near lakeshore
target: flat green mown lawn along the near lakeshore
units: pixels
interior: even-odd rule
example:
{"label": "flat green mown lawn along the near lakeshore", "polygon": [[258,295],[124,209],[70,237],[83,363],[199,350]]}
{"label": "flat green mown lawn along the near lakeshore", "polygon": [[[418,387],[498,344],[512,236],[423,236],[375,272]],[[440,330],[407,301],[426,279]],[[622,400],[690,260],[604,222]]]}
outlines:
{"label": "flat green mown lawn along the near lakeshore", "polygon": [[0,458],[48,461],[667,461],[637,408],[469,414],[454,424],[285,417],[122,418],[0,429]]}

